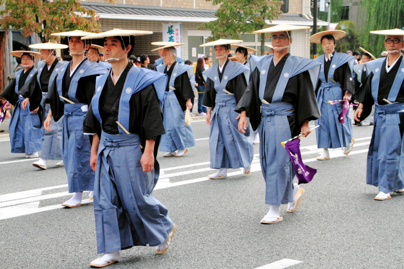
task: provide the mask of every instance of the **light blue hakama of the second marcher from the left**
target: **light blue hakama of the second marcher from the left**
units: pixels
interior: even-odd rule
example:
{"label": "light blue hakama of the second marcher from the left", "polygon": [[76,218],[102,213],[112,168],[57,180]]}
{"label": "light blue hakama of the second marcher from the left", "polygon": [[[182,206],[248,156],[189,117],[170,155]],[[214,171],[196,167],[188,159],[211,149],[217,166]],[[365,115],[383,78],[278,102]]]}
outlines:
{"label": "light blue hakama of the second marcher from the left", "polygon": [[[43,105],[43,100],[45,96],[42,96],[41,105]],[[43,105],[44,118],[46,118],[47,114],[51,110],[51,107],[47,105]],[[63,117],[55,122],[52,117],[50,128],[52,131],[46,131],[42,127],[42,151],[41,158],[42,159],[52,159],[52,160],[60,160],[62,159],[62,127],[63,127]]]}

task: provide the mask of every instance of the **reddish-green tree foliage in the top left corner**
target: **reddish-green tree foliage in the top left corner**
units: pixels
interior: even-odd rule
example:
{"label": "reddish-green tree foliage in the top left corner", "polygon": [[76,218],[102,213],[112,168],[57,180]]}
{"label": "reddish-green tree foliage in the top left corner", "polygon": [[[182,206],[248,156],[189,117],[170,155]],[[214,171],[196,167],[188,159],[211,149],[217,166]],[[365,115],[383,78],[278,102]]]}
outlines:
{"label": "reddish-green tree foliage in the top left corner", "polygon": [[95,12],[81,6],[78,0],[0,0],[0,4],[5,7],[0,11],[1,27],[20,30],[24,36],[35,32],[42,42],[58,39],[51,36],[55,32],[99,29]]}

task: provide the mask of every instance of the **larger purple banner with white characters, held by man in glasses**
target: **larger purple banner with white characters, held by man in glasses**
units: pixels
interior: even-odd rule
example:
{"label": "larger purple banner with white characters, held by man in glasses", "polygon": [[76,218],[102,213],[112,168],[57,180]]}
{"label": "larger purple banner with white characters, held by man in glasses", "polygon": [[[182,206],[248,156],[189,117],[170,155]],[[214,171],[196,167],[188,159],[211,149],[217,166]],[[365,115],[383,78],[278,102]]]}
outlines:
{"label": "larger purple banner with white characters, held by man in glasses", "polygon": [[289,153],[290,160],[299,184],[305,184],[312,181],[317,170],[306,166],[301,159],[300,154],[300,139],[295,138],[285,144],[285,149]]}

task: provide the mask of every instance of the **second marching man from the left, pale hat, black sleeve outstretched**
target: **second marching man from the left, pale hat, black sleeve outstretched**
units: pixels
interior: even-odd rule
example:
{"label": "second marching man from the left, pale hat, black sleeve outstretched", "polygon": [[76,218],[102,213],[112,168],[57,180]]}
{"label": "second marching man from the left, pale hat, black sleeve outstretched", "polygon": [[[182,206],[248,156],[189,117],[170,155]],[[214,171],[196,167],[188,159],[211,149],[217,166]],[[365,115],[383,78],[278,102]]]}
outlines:
{"label": "second marching man from the left, pale hat, black sleeve outstretched", "polygon": [[[57,70],[61,68],[66,62],[59,61],[55,56],[56,49],[67,48],[67,45],[56,43],[39,43],[29,45],[30,48],[40,50],[42,61],[38,64],[38,71],[35,74],[35,79],[29,80],[21,89],[20,94],[24,97],[29,97],[30,110],[34,107],[40,106],[43,109],[44,117],[51,114],[50,107],[43,104],[45,96],[48,92],[48,87],[55,80]],[[39,169],[46,169],[46,160],[61,160],[62,159],[62,121],[51,121],[52,131],[42,131],[42,150],[39,160],[32,165]],[[63,166],[63,160],[56,164],[56,166]]]}

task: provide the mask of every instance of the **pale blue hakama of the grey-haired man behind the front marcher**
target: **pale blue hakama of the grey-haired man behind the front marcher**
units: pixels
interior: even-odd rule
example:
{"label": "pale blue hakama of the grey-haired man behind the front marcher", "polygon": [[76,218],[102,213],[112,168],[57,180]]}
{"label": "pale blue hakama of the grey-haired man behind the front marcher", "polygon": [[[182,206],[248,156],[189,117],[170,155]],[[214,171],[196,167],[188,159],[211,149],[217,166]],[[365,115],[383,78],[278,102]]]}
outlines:
{"label": "pale blue hakama of the grey-haired man behind the front marcher", "polygon": [[192,127],[185,125],[185,114],[174,91],[166,91],[162,109],[166,133],[161,136],[160,151],[172,152],[194,146]]}

